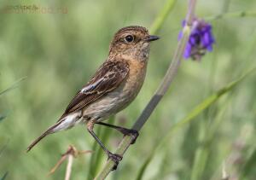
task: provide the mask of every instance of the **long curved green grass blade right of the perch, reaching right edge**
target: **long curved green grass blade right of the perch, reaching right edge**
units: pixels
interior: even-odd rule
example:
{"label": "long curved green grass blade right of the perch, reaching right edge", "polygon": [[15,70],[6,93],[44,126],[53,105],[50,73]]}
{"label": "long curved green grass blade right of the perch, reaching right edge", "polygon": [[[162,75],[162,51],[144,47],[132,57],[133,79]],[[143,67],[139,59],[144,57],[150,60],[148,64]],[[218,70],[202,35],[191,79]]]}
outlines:
{"label": "long curved green grass blade right of the perch, reaching right edge", "polygon": [[232,81],[230,84],[224,86],[224,88],[218,90],[217,92],[213,93],[211,96],[208,96],[204,101],[199,103],[190,113],[188,113],[182,120],[180,120],[176,125],[173,125],[170,130],[166,133],[166,136],[162,138],[160,142],[158,142],[154,149],[152,150],[152,154],[148,155],[148,158],[144,161],[143,165],[141,166],[140,170],[137,174],[137,180],[142,179],[143,173],[145,172],[147,166],[149,165],[150,161],[154,158],[155,152],[157,152],[158,148],[161,148],[165,145],[166,141],[170,140],[172,133],[177,131],[179,128],[189,124],[195,117],[197,117],[200,113],[204,112],[208,107],[210,107],[214,102],[217,102],[221,96],[224,96],[226,93],[229,93],[231,90],[234,90],[236,85],[240,84],[241,81],[246,78],[250,73],[255,72],[256,67],[244,73],[240,78]]}

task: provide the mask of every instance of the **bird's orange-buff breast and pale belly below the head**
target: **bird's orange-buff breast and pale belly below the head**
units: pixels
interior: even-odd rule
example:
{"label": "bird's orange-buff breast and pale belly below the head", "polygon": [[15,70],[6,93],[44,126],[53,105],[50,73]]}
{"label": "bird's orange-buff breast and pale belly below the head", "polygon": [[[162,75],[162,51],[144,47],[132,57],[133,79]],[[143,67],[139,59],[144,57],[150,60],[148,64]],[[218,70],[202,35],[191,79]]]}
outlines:
{"label": "bird's orange-buff breast and pale belly below the head", "polygon": [[84,113],[97,117],[99,120],[107,119],[110,115],[118,113],[127,107],[141,90],[146,75],[147,62],[130,63],[130,71],[116,90],[109,92],[99,101],[90,104]]}

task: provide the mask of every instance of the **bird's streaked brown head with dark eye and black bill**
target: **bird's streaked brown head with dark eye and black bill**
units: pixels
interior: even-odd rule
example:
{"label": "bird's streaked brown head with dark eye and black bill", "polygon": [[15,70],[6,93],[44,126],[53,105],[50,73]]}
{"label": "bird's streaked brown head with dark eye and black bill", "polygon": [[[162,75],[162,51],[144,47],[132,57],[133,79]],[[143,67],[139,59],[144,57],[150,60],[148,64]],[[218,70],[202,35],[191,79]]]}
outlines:
{"label": "bird's streaked brown head with dark eye and black bill", "polygon": [[149,35],[148,30],[143,26],[126,26],[115,33],[109,55],[147,61],[149,44],[157,39],[159,37]]}

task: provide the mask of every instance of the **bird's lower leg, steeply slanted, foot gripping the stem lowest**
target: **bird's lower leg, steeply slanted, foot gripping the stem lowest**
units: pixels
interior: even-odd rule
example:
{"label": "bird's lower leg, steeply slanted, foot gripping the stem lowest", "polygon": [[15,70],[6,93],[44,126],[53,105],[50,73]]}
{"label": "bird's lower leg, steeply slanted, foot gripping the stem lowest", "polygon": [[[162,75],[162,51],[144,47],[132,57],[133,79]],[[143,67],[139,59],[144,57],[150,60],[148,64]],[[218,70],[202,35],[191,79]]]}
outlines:
{"label": "bird's lower leg, steeply slanted, foot gripping the stem lowest", "polygon": [[111,159],[113,160],[113,162],[115,163],[114,167],[113,167],[113,170],[116,170],[117,166],[119,165],[119,161],[122,160],[122,156],[119,155],[119,154],[113,154],[111,153],[108,148],[106,148],[104,146],[104,144],[102,143],[102,141],[99,139],[98,136],[96,136],[95,132],[93,131],[93,127],[94,127],[94,124],[96,122],[94,120],[90,120],[88,123],[87,123],[87,130],[90,132],[91,136],[93,136],[96,140],[96,142],[98,142],[100,144],[100,146],[102,147],[102,149],[105,151],[105,153],[108,155],[108,159]]}

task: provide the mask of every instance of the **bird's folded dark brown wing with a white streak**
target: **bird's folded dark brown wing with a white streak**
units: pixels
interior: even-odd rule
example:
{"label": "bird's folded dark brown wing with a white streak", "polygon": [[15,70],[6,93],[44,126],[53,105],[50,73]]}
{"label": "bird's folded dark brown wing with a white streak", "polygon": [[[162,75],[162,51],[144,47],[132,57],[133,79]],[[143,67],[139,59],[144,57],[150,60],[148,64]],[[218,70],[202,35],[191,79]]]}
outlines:
{"label": "bird's folded dark brown wing with a white streak", "polygon": [[73,97],[61,119],[116,89],[128,73],[128,63],[124,61],[105,61],[89,83]]}

